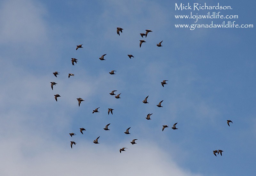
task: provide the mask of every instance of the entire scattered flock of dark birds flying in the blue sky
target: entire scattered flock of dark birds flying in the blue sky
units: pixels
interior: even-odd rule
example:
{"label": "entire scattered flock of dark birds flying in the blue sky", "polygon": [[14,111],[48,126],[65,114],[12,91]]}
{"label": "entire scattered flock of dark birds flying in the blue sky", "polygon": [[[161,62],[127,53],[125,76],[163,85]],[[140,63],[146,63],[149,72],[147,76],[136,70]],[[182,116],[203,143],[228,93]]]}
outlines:
{"label": "entire scattered flock of dark birds flying in the blue sky", "polygon": [[[123,33],[123,30],[124,30],[124,29],[122,29],[121,27],[117,27],[116,29],[117,29],[116,32],[117,32],[118,35],[120,35],[120,32]],[[143,38],[143,36],[145,36],[145,38],[146,38],[149,32],[152,32],[152,30],[146,29],[146,33],[140,33],[140,36],[141,36],[142,38]],[[144,42],[146,42],[146,41],[145,41],[145,40],[140,40],[140,47],[141,47],[141,44],[144,43]],[[159,42],[158,44],[156,44],[156,46],[157,46],[157,47],[162,47],[162,42],[163,42],[163,40],[162,40],[161,42]],[[76,50],[77,50],[78,48],[83,48],[82,45],[83,45],[83,44],[77,45],[77,46],[76,46]],[[105,55],[107,55],[107,54],[102,55],[101,57],[99,57],[99,59],[100,59],[101,61],[105,60],[105,59],[104,59],[104,56],[105,56]],[[128,57],[129,57],[130,59],[131,59],[132,57],[134,58],[133,55],[128,55]],[[77,60],[76,58],[71,58],[71,63],[72,63],[72,65],[75,65],[74,63],[77,63],[77,61],[78,61],[78,60]],[[114,75],[114,74],[116,74],[115,71],[116,71],[116,70],[112,70],[111,72],[109,72],[109,74],[110,74],[110,75]],[[57,75],[59,75],[59,73],[60,73],[60,72],[55,71],[55,72],[53,72],[53,75],[54,75],[55,77],[57,77]],[[72,73],[69,73],[69,74],[68,74],[68,78],[69,78],[70,76],[75,76],[75,75],[72,74]],[[168,80],[163,80],[163,82],[161,82],[161,84],[162,84],[163,87],[164,87],[164,84],[167,84],[166,81],[168,81]],[[57,83],[55,83],[55,82],[51,82],[51,88],[52,88],[52,90],[53,90],[53,85],[56,85],[56,84],[57,84]],[[116,92],[116,90],[110,92],[109,94],[110,94],[110,95],[116,95],[115,92]],[[117,95],[115,96],[115,98],[116,98],[116,99],[120,99],[120,98],[121,98],[120,95],[121,95],[121,93],[117,94]],[[58,99],[57,99],[58,97],[61,97],[61,96],[60,96],[59,94],[54,95],[54,98],[55,98],[56,101],[58,101]],[[78,106],[80,107],[81,102],[84,101],[84,100],[83,100],[82,98],[77,98],[77,101],[78,101]],[[161,103],[162,103],[163,101],[164,101],[164,100],[160,101],[159,104],[156,105],[156,106],[157,106],[157,107],[163,107],[163,106],[161,106]],[[142,102],[145,103],[145,104],[148,103],[148,96],[147,96]],[[98,107],[98,108],[96,108],[95,110],[93,110],[93,111],[92,111],[92,114],[93,114],[93,113],[99,113],[99,111],[98,111],[99,108],[100,108],[100,107]],[[114,109],[112,109],[112,108],[108,108],[108,115],[109,115],[109,113],[113,114],[113,110],[114,110]],[[151,120],[151,119],[150,119],[150,115],[152,115],[152,114],[149,113],[149,114],[147,115],[147,117],[146,117],[147,120]],[[229,125],[230,122],[233,123],[231,120],[227,120],[228,126],[230,126],[230,125]],[[177,122],[177,123],[174,123],[172,129],[174,129],[174,130],[175,130],[175,129],[178,129],[178,128],[176,128],[176,125],[177,125],[177,124],[178,124],[178,122]],[[106,130],[106,131],[109,130],[109,129],[108,129],[108,126],[109,126],[109,125],[110,125],[110,123],[108,123],[108,124],[106,125],[106,127],[103,128],[103,129]],[[168,125],[163,125],[162,131],[164,131],[164,129],[165,129],[165,128],[168,128],[168,127],[169,127]],[[124,131],[124,133],[127,134],[127,135],[128,135],[128,134],[131,134],[131,133],[129,133],[129,129],[130,129],[130,128],[131,128],[131,127],[127,128],[126,131]],[[82,134],[84,134],[83,131],[86,131],[86,129],[80,128],[80,132],[81,132]],[[72,136],[74,136],[74,135],[76,135],[76,134],[75,134],[75,133],[69,133],[69,135],[72,137]],[[93,140],[93,143],[98,144],[98,139],[99,139],[99,138],[100,138],[100,136],[97,137],[95,140]],[[138,140],[138,139],[133,139],[130,143],[132,143],[132,145],[133,145],[133,144],[136,144],[136,143],[135,143],[136,140]],[[72,149],[73,144],[76,145],[76,142],[70,141],[71,149]],[[120,153],[121,153],[122,151],[125,151],[124,149],[127,149],[127,148],[126,148],[126,147],[123,147],[122,149],[119,149]],[[213,154],[214,154],[216,157],[217,157],[216,153],[218,153],[218,155],[219,155],[219,153],[220,153],[220,155],[222,156],[222,152],[223,152],[223,150],[213,150]]]}

